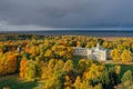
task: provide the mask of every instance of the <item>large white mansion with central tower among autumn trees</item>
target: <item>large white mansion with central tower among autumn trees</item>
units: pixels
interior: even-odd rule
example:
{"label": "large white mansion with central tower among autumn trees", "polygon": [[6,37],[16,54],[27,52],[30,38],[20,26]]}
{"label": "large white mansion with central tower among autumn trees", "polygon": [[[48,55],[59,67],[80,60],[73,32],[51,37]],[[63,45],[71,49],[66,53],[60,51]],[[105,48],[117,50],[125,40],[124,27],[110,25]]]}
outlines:
{"label": "large white mansion with central tower among autumn trees", "polygon": [[74,56],[84,56],[88,58],[105,61],[110,59],[110,50],[103,49],[98,43],[95,48],[74,48]]}

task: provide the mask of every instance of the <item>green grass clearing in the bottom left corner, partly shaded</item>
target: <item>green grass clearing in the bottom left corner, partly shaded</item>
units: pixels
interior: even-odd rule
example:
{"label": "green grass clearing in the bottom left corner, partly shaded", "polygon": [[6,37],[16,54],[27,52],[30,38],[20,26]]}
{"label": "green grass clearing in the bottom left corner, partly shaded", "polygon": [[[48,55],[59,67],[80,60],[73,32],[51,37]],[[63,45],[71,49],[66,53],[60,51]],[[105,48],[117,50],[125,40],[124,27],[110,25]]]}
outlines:
{"label": "green grass clearing in the bottom left corner, partly shaded", "polygon": [[18,75],[0,77],[0,89],[3,87],[10,87],[10,89],[43,89],[40,87],[40,82],[24,81],[19,79]]}

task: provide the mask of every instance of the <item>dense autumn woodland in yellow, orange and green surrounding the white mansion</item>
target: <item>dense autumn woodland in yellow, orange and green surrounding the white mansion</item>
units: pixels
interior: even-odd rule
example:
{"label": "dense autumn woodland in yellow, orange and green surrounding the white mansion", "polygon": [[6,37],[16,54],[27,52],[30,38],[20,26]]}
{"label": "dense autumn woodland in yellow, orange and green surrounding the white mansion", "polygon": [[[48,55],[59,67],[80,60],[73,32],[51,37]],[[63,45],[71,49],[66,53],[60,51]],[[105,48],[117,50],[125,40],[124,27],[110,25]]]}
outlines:
{"label": "dense autumn woodland in yellow, orange and green surrounding the white mansion", "polygon": [[0,77],[19,73],[25,80],[44,80],[44,89],[133,89],[133,71],[120,78],[120,66],[73,56],[73,47],[92,48],[98,42],[111,50],[111,61],[132,63],[133,38],[1,34]]}

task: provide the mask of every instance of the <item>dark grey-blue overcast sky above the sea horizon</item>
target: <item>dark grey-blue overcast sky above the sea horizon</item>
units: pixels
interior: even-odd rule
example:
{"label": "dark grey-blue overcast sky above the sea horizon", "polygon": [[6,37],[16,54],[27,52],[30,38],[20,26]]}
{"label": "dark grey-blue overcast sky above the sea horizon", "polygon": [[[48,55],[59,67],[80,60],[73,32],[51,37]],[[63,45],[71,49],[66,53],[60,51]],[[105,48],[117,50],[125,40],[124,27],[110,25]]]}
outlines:
{"label": "dark grey-blue overcast sky above the sea horizon", "polygon": [[132,28],[133,0],[0,0],[0,30]]}

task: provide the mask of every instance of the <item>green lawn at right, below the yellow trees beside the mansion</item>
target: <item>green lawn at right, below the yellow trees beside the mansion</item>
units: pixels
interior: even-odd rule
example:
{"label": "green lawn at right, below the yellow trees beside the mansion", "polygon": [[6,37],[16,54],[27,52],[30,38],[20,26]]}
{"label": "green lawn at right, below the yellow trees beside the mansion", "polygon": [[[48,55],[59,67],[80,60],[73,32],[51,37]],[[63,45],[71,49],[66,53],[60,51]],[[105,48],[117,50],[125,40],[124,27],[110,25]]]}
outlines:
{"label": "green lawn at right, below the yellow trees beside the mansion", "polygon": [[133,71],[133,65],[106,63],[106,67],[114,67],[114,66],[121,66],[120,81],[121,81],[121,78],[122,78],[123,73],[124,73],[126,70],[131,70],[131,71]]}

